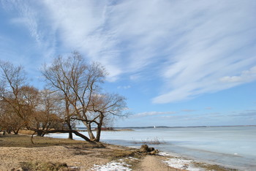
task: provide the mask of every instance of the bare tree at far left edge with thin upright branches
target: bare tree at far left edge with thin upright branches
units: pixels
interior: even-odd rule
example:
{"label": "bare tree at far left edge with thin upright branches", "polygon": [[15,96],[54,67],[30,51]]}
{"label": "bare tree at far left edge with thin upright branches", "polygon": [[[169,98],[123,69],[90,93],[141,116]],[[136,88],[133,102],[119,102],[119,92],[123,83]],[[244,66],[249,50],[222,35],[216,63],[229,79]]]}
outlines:
{"label": "bare tree at far left edge with thin upright branches", "polygon": [[4,105],[4,118],[7,128],[16,129],[29,123],[31,102],[26,99],[26,73],[22,66],[13,66],[10,62],[0,61],[0,102]]}

